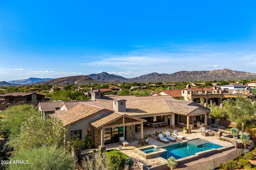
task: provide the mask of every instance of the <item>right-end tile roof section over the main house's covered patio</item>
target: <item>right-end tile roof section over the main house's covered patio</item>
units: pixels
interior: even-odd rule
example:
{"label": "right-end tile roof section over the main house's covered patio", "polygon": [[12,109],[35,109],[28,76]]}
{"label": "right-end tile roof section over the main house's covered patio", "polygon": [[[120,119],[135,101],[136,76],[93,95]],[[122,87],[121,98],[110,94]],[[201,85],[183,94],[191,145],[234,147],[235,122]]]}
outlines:
{"label": "right-end tile roof section over the main house's covered patio", "polygon": [[207,107],[196,104],[195,102],[184,101],[184,100],[165,100],[173,113],[180,115],[188,115],[196,109],[202,109],[207,113],[210,113],[210,109]]}

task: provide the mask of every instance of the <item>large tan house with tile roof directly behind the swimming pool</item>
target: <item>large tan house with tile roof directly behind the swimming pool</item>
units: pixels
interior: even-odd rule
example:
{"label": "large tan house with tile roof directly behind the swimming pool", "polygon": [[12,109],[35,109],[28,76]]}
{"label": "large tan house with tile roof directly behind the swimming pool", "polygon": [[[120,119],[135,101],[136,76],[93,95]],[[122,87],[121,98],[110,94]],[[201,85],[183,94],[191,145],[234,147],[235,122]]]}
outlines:
{"label": "large tan house with tile roof directly behind the swimming pool", "polygon": [[[44,110],[44,107],[47,106],[41,109]],[[173,100],[170,96],[101,97],[100,92],[94,91],[90,101],[79,102],[71,109],[58,109],[52,116],[62,120],[64,126],[70,125],[67,139],[72,134],[81,139],[88,136],[94,138],[96,146],[104,146],[119,142],[118,138],[122,136],[126,140],[135,139],[136,131],[140,131],[140,137],[143,138],[145,122],[150,127],[163,122],[171,128],[175,128],[178,121],[188,122],[188,125],[193,121],[207,124],[209,113],[207,107],[194,102]]]}

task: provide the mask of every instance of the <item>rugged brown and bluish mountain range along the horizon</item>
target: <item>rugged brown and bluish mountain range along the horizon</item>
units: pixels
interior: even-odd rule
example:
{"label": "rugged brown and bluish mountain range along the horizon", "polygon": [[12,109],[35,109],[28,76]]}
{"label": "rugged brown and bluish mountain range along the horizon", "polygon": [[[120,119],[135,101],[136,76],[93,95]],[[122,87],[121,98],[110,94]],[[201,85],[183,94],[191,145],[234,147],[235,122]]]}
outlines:
{"label": "rugged brown and bluish mountain range along the horizon", "polygon": [[[87,76],[69,76],[69,77],[63,77],[63,78],[56,78],[52,80],[47,80],[47,78],[45,79],[29,78],[26,80],[13,80],[10,82],[0,82],[0,86],[16,86],[18,84],[67,85],[67,84],[97,84],[97,83],[108,83],[108,82],[175,82],[175,81],[239,80],[239,79],[240,80],[256,79],[256,74],[250,73],[250,72],[233,71],[228,68],[225,68],[223,70],[212,70],[212,71],[179,71],[172,74],[165,74],[165,73],[159,74],[157,72],[153,72],[153,73],[144,74],[142,76],[138,76],[135,78],[124,78],[122,76],[108,74],[107,72],[101,72],[99,74],[89,74]],[[37,80],[40,80],[40,81],[37,81]]]}

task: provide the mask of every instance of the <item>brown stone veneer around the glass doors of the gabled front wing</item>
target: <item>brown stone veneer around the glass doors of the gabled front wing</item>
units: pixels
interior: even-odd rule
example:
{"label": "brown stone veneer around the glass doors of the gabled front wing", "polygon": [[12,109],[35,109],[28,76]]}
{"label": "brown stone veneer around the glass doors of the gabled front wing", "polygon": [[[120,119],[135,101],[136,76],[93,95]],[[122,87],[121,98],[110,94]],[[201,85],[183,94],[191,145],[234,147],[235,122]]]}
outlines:
{"label": "brown stone veneer around the glass doors of the gabled front wing", "polygon": [[[128,117],[124,117],[124,122],[131,123],[131,122],[135,122],[135,120]],[[122,123],[123,123],[123,118],[120,118],[114,122],[109,123],[108,125],[116,125],[118,127],[118,125]],[[129,141],[132,139],[135,139],[135,125],[130,125],[126,127],[126,140]],[[94,127],[94,142],[96,147],[101,145],[101,128],[97,129]]]}

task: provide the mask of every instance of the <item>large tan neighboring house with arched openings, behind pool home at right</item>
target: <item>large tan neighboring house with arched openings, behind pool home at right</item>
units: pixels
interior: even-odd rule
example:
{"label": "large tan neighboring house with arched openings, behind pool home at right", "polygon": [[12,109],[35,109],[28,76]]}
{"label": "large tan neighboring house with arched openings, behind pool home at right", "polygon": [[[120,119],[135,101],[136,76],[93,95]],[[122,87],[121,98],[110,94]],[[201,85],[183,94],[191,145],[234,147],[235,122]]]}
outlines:
{"label": "large tan neighboring house with arched openings, behind pool home at right", "polygon": [[[244,87],[244,85],[234,84],[236,87]],[[227,86],[226,86],[227,87]],[[232,86],[234,87],[234,86]],[[244,96],[245,98],[255,101],[255,95],[248,90],[248,88],[242,88],[243,90],[224,90],[220,89],[219,86],[213,86],[213,88],[189,88],[182,90],[182,96],[186,101],[193,101],[200,103],[200,98],[204,98],[204,101],[208,104],[220,105],[223,100],[230,98],[236,98],[236,96]]]}

